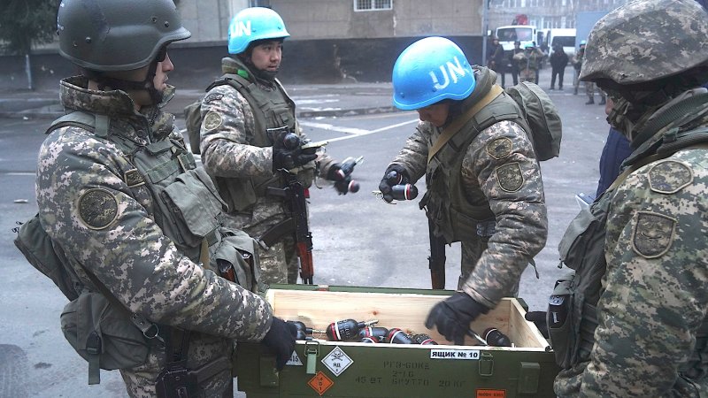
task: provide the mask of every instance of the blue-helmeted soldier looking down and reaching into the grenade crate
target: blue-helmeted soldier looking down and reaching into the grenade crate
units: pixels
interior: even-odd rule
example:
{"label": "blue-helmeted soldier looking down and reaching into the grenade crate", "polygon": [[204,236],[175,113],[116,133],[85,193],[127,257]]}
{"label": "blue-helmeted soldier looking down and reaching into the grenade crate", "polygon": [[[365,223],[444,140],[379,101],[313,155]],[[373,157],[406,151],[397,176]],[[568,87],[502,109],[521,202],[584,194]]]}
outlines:
{"label": "blue-helmeted soldier looking down and reaching into the grenade crate", "polygon": [[[517,110],[495,80],[442,37],[414,42],[393,71],[394,104],[418,111],[420,122],[385,175],[396,171],[405,182],[425,175],[420,205],[435,236],[461,242],[461,292],[438,303],[426,322],[458,344],[474,318],[515,294],[547,236],[541,171],[527,132],[511,120],[479,132],[473,125],[477,116],[494,118],[491,110]],[[389,180],[379,188],[389,193]]]}

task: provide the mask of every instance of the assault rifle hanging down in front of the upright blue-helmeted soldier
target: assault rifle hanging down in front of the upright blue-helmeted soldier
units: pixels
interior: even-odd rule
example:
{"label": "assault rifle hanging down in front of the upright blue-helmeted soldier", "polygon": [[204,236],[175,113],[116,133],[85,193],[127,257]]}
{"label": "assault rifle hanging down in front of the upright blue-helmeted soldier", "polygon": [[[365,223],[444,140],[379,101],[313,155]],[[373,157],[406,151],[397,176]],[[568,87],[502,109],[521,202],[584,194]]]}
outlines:
{"label": "assault rifle hanging down in front of the upright blue-helmeted soldier", "polygon": [[[294,133],[285,134],[282,137],[282,142],[285,143],[287,149],[299,147],[302,150],[312,150],[313,153],[319,147],[327,144],[327,142],[308,142],[301,146],[300,137]],[[259,243],[270,246],[282,235],[294,233],[297,257],[300,262],[300,278],[303,279],[305,285],[312,285],[312,275],[314,274],[312,233],[307,219],[307,199],[310,195],[303,184],[297,180],[297,170],[280,169],[279,172],[285,180],[285,188],[268,187],[267,194],[284,198],[290,217],[266,231],[260,237]]]}

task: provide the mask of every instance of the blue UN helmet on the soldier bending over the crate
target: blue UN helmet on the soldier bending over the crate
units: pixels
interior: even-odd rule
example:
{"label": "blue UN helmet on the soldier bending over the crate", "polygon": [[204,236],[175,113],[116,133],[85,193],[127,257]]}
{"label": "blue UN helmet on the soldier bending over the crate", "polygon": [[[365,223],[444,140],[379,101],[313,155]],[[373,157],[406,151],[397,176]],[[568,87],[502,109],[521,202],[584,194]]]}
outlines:
{"label": "blue UN helmet on the soldier bending over the crate", "polygon": [[412,43],[393,65],[393,104],[404,111],[444,99],[463,100],[476,82],[472,66],[457,44],[443,37]]}

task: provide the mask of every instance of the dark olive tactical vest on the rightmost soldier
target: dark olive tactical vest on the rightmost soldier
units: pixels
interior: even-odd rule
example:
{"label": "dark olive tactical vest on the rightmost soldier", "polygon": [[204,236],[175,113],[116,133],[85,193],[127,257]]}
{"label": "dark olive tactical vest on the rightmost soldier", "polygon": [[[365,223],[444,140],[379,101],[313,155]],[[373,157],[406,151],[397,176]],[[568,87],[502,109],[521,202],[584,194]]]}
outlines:
{"label": "dark olive tactical vest on the rightmost soldier", "polygon": [[[690,134],[695,137],[690,138]],[[547,322],[556,362],[563,369],[588,362],[595,344],[597,327],[597,302],[603,293],[602,279],[606,272],[604,241],[605,226],[611,211],[612,198],[617,187],[627,176],[651,162],[670,157],[680,149],[708,149],[708,128],[685,134],[683,142],[674,142],[669,150],[658,155],[644,157],[632,165],[612,183],[589,208],[581,210],[568,226],[558,250],[562,264],[573,272],[558,279],[549,299]],[[696,142],[702,142],[698,143]],[[696,348],[688,364],[679,370],[689,379],[704,379],[708,376],[708,319],[696,333]]]}

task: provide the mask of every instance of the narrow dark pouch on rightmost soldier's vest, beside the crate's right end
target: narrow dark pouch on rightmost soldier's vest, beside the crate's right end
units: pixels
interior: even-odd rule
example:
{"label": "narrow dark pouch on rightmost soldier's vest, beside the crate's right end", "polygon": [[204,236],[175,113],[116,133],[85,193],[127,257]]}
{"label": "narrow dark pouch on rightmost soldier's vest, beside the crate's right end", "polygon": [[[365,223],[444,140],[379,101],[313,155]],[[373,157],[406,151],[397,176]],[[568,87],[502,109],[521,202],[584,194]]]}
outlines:
{"label": "narrow dark pouch on rightmost soldier's vest, beside the crate's right end", "polygon": [[571,272],[556,281],[556,287],[548,300],[546,324],[550,336],[553,353],[558,366],[567,369],[571,366],[575,353],[575,335],[573,325],[573,276]]}

